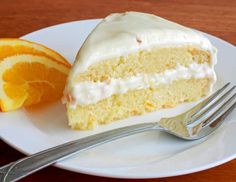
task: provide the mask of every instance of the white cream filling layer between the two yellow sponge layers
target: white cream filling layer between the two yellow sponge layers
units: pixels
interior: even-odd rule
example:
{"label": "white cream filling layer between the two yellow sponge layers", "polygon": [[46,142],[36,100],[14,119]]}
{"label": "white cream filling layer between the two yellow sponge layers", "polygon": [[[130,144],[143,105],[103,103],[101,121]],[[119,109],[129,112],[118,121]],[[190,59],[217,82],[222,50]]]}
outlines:
{"label": "white cream filling layer between the two yellow sponge layers", "polygon": [[76,83],[71,90],[72,108],[77,105],[95,104],[115,94],[124,94],[130,90],[158,87],[160,84],[171,84],[179,79],[210,78],[212,84],[216,80],[212,66],[207,63],[192,63],[188,67],[177,65],[175,69],[156,74],[138,74],[127,78],[112,78],[104,82],[85,81]]}

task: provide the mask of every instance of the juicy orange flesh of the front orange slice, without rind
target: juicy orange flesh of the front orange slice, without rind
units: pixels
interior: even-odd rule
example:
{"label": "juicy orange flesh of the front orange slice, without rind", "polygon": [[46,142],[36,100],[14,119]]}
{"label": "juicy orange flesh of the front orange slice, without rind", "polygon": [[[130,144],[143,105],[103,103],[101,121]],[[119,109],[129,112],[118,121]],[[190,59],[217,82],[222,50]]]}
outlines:
{"label": "juicy orange flesh of the front orange slice, without rind", "polygon": [[24,106],[59,99],[66,77],[55,68],[37,62],[16,63],[2,75],[6,95]]}

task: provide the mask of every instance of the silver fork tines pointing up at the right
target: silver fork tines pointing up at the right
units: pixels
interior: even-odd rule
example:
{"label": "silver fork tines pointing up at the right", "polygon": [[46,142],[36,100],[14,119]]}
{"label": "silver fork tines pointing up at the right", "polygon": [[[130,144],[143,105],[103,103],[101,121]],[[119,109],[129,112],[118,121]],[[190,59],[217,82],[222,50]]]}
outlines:
{"label": "silver fork tines pointing up at the right", "polygon": [[199,109],[191,115],[188,127],[194,127],[202,123],[202,127],[208,126],[217,119],[226,117],[236,106],[235,87],[231,83],[225,84],[210,97],[197,105]]}

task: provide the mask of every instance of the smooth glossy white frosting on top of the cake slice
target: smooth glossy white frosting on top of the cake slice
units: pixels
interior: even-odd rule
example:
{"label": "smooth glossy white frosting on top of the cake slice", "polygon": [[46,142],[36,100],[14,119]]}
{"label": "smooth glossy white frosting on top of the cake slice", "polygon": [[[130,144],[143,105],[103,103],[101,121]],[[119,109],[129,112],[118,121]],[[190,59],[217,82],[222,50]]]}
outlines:
{"label": "smooth glossy white frosting on top of the cake slice", "polygon": [[114,13],[104,18],[79,50],[71,75],[98,62],[153,46],[196,45],[213,51],[201,33],[161,17],[140,13]]}

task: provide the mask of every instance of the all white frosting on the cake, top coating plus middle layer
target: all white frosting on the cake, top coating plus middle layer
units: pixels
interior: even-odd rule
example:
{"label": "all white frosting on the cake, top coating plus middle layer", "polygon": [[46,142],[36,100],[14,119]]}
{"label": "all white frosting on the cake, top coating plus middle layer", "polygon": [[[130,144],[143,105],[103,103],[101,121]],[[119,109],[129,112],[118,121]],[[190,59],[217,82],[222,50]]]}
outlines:
{"label": "all white frosting on the cake, top coating plus middle layer", "polygon": [[[189,68],[177,66],[176,69],[168,70],[163,74],[140,74],[124,79],[111,79],[110,83],[74,81],[77,74],[83,73],[89,66],[99,61],[152,47],[183,45],[194,45],[209,51],[211,64],[209,66],[193,64]],[[68,77],[65,95],[72,94],[76,102],[70,105],[75,107],[76,104],[96,103],[113,94],[125,93],[128,90],[147,88],[152,83],[158,86],[180,78],[215,78],[212,76],[215,63],[216,49],[207,38],[193,29],[146,13],[111,14],[96,26],[79,50]]]}

